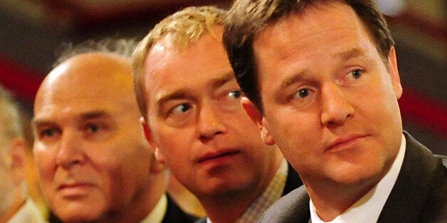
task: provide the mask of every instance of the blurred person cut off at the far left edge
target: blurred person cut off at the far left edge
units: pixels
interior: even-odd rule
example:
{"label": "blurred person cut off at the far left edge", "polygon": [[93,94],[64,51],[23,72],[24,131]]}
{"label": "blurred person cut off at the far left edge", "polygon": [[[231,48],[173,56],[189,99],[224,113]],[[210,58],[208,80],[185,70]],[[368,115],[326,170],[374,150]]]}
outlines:
{"label": "blurred person cut off at the far left edge", "polygon": [[28,198],[26,153],[19,106],[0,86],[0,222],[46,222]]}

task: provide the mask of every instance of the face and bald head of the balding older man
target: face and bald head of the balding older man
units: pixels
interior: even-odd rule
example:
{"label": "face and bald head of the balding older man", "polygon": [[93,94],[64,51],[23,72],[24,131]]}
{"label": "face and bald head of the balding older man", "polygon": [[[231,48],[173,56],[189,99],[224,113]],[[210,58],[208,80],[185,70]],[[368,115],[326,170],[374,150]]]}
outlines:
{"label": "face and bald head of the balding older man", "polygon": [[151,151],[130,72],[127,60],[79,55],[39,89],[33,150],[43,193],[63,221],[119,213],[148,190]]}

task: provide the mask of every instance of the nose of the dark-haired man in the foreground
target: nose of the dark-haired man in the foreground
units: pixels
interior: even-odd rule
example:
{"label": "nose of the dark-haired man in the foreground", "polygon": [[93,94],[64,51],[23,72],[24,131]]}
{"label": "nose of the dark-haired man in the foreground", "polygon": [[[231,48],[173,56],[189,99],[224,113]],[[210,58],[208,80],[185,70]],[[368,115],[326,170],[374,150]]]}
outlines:
{"label": "nose of the dark-haired man in the foreground", "polygon": [[349,103],[345,92],[336,84],[322,87],[321,123],[324,126],[339,126],[354,116],[354,107]]}

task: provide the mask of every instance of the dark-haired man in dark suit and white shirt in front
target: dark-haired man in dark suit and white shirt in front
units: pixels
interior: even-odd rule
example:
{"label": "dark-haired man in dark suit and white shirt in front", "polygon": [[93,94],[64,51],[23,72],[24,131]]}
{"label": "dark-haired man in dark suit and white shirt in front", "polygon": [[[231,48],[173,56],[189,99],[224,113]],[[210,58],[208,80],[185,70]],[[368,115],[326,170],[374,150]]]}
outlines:
{"label": "dark-haired man in dark suit and white shirt in front", "polygon": [[263,222],[447,219],[446,160],[402,129],[394,41],[374,1],[236,1],[223,42],[246,113],[305,185]]}

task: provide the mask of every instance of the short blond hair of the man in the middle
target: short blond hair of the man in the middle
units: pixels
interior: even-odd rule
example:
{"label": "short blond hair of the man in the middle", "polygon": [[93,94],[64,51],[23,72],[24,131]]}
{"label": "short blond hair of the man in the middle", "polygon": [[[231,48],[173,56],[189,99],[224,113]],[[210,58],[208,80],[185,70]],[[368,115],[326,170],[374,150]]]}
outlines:
{"label": "short blond hair of the man in the middle", "polygon": [[[132,69],[135,94],[140,112],[147,120],[146,94],[144,92],[144,60],[152,47],[162,40],[173,43],[178,50],[183,50],[190,43],[198,40],[204,33],[211,33],[211,27],[223,26],[226,11],[215,6],[188,7],[167,16],[145,36],[133,54]],[[221,36],[219,36],[221,38]]]}

